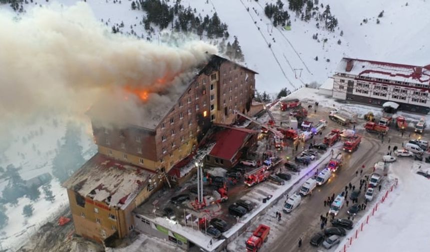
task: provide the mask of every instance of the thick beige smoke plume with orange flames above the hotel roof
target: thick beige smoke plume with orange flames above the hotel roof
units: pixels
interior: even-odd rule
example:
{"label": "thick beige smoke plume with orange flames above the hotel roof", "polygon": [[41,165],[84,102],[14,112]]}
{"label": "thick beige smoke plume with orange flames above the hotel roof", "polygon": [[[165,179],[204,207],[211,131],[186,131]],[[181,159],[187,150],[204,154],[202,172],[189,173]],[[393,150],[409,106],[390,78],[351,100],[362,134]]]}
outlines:
{"label": "thick beige smoke plume with orange flames above the hotel roof", "polygon": [[[144,111],[180,92],[190,69],[216,53],[202,41],[158,45],[112,34],[83,2],[13,14],[0,10],[3,127],[45,111],[80,116],[95,101],[105,104],[94,109],[100,120],[121,120],[124,112],[144,119]],[[146,102],[136,90],[147,92]]]}

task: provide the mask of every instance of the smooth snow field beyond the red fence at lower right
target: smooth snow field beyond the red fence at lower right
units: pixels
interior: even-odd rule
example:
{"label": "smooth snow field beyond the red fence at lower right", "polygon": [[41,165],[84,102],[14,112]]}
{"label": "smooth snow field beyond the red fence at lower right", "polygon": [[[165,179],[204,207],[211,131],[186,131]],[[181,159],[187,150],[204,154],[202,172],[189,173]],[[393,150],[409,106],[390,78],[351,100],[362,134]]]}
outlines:
{"label": "smooth snow field beyond the red fence at lower right", "polygon": [[[430,195],[427,191],[430,181],[416,174],[419,166],[422,171],[430,172],[428,163],[412,162],[408,158],[392,163],[391,172],[398,177],[397,188],[379,204],[369,223],[347,248],[348,252],[429,250]],[[340,249],[342,244],[335,251]]]}

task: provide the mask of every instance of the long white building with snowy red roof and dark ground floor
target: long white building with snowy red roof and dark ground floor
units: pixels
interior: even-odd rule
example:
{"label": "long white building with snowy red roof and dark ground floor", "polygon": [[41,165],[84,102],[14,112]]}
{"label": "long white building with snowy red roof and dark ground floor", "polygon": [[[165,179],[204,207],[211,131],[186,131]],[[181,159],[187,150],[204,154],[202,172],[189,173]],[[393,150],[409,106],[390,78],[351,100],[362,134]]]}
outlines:
{"label": "long white building with snowy red roof and dark ground floor", "polygon": [[430,64],[415,66],[342,58],[333,75],[332,96],[376,106],[393,101],[400,110],[427,114],[429,85]]}

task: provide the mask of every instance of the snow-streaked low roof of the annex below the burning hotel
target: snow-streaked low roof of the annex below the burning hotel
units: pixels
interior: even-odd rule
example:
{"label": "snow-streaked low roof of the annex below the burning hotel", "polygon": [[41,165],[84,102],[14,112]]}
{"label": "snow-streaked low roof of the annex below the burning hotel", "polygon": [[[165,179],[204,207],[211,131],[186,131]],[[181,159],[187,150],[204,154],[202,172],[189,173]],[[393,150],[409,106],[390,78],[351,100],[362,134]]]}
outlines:
{"label": "snow-streaked low roof of the annex below the burning hotel", "polygon": [[155,174],[143,168],[95,154],[63,186],[109,206],[126,205]]}

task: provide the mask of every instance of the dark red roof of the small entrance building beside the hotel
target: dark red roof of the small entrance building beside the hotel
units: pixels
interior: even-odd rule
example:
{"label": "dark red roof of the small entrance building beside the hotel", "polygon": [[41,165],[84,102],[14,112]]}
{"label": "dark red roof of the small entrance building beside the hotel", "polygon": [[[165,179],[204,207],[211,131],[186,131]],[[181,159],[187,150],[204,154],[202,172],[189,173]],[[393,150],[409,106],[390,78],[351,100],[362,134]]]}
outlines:
{"label": "dark red roof of the small entrance building beside the hotel", "polygon": [[246,137],[253,132],[255,131],[244,128],[227,128],[216,132],[213,135],[216,144],[209,155],[230,160],[240,149]]}

